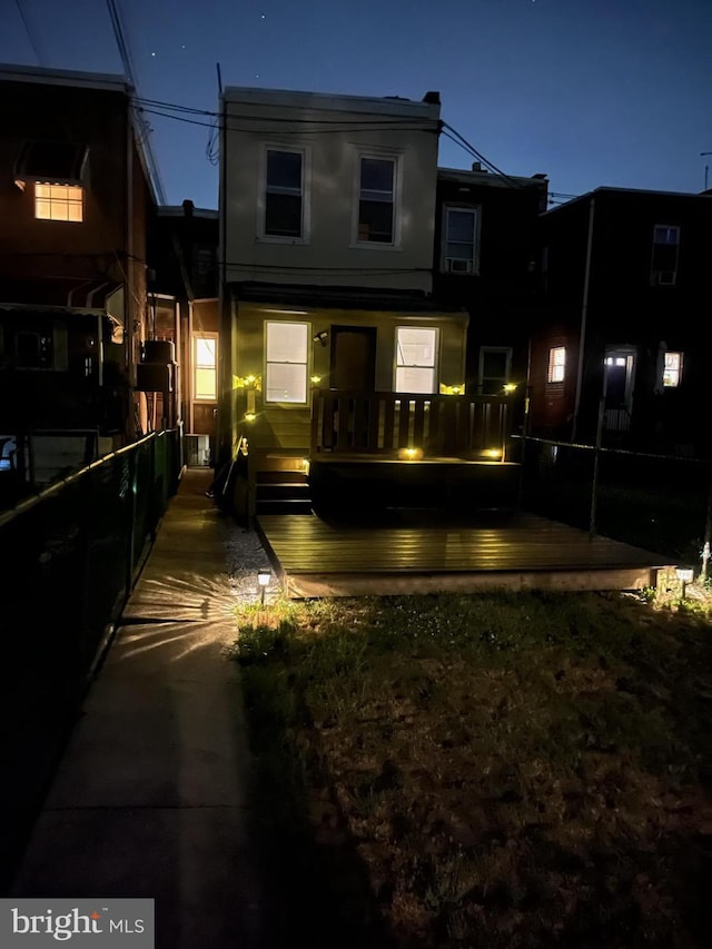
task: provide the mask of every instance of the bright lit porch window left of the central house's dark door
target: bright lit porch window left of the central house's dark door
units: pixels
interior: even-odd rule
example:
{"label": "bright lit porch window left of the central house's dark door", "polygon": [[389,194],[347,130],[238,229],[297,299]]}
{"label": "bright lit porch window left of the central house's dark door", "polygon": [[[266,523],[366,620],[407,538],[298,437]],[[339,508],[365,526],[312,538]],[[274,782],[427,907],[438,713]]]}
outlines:
{"label": "bright lit porch window left of the central house's dark door", "polygon": [[307,402],[308,323],[267,323],[265,401]]}

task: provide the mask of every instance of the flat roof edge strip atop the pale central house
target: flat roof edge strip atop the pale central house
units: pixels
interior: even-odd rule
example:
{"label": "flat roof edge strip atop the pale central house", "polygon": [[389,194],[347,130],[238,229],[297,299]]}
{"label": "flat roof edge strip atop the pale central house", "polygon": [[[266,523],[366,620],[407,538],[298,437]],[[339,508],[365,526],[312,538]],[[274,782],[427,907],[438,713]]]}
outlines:
{"label": "flat roof edge strip atop the pale central house", "polygon": [[[426,93],[427,95],[427,93]],[[439,102],[405,99],[397,96],[354,96],[342,92],[309,92],[298,89],[264,89],[255,86],[226,86],[220,99],[230,102],[260,106],[291,106],[324,111],[367,111],[393,116],[438,118]]]}

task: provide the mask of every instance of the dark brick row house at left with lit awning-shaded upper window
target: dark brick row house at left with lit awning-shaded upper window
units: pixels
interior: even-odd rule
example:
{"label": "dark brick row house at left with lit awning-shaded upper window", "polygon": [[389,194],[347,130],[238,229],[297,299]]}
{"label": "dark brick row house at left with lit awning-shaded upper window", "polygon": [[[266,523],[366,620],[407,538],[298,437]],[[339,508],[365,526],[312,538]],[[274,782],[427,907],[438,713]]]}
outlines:
{"label": "dark brick row house at left with lit awning-shaded upper window", "polygon": [[33,484],[147,431],[151,165],[117,76],[0,67],[0,435]]}

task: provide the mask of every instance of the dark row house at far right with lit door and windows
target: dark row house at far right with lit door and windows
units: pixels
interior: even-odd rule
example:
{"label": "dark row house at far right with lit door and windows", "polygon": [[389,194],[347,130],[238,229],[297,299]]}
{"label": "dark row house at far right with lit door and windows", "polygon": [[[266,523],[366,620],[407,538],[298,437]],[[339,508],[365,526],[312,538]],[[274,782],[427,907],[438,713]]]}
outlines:
{"label": "dark row house at far right with lit door and windows", "polygon": [[597,188],[538,234],[532,434],[710,457],[712,197]]}

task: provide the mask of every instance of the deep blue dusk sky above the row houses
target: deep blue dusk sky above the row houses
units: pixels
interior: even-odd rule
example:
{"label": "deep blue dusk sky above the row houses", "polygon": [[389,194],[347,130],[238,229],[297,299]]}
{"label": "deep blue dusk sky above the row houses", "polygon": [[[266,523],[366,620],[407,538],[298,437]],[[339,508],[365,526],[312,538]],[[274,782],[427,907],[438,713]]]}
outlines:
{"label": "deep blue dusk sky above the row houses", "polygon": [[[712,0],[116,0],[142,97],[226,86],[405,96],[557,194],[712,184]],[[23,23],[20,11],[29,26]],[[0,0],[0,60],[122,71],[106,0]],[[164,110],[165,111],[165,110]],[[146,115],[170,204],[217,206],[209,129]],[[182,113],[182,118],[210,121]],[[446,138],[439,164],[469,167]]]}

